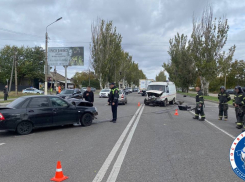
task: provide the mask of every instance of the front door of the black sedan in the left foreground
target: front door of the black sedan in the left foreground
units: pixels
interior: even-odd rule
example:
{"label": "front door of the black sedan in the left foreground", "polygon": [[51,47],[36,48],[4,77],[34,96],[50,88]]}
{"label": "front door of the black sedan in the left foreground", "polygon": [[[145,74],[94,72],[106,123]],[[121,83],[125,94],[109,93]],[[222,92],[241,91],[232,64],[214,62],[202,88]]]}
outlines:
{"label": "front door of the black sedan in the left foreground", "polygon": [[76,107],[58,97],[50,97],[54,125],[73,124],[78,121]]}

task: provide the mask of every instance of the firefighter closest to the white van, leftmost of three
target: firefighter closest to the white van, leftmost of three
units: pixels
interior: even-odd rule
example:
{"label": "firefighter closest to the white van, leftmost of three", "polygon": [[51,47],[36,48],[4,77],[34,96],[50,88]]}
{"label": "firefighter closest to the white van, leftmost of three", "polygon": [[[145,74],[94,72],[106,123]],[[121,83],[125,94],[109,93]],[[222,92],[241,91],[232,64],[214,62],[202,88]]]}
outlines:
{"label": "firefighter closest to the white van, leftmost of three", "polygon": [[205,114],[203,110],[204,99],[203,93],[200,87],[196,87],[197,95],[196,95],[196,108],[195,108],[195,117],[193,119],[199,119],[199,115],[201,115],[201,119],[199,121],[205,121]]}

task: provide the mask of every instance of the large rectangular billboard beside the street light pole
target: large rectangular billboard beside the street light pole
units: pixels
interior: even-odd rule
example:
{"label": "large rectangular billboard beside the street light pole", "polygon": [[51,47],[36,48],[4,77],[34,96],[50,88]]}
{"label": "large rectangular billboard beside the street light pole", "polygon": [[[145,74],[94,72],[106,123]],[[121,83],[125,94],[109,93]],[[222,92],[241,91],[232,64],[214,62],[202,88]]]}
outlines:
{"label": "large rectangular billboard beside the street light pole", "polygon": [[50,66],[84,66],[84,47],[49,47]]}

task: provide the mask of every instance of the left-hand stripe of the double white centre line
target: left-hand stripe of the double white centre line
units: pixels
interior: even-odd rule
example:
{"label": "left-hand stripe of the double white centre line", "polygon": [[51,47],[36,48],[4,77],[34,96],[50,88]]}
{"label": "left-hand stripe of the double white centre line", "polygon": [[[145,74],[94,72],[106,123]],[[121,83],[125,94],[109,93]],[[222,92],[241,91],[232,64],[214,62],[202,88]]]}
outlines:
{"label": "left-hand stripe of the double white centre line", "polygon": [[130,120],[130,122],[128,123],[127,127],[125,128],[125,130],[121,134],[121,136],[118,139],[117,143],[115,144],[115,146],[111,150],[110,154],[106,158],[104,164],[102,165],[102,167],[100,168],[99,172],[95,176],[93,182],[101,182],[102,179],[104,178],[104,176],[105,176],[108,168],[111,165],[112,160],[114,159],[114,157],[115,157],[118,149],[120,148],[120,146],[121,146],[124,138],[126,137],[126,134],[128,133],[128,130],[130,129],[131,125],[133,124],[133,122],[135,120],[135,117],[138,115],[138,113],[139,113],[139,111],[140,111],[141,108],[142,108],[142,105],[138,108],[138,110],[136,111],[136,113],[134,114],[134,116],[132,117],[132,119]]}

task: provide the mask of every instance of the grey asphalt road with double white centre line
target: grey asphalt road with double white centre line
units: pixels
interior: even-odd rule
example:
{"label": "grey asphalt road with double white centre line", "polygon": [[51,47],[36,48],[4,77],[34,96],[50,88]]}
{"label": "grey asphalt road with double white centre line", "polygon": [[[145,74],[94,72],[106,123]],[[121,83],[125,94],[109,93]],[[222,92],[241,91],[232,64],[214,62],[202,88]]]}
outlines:
{"label": "grey asphalt road with double white centre line", "polygon": [[[207,121],[201,122],[188,111],[175,116],[176,106],[138,107],[143,99],[128,95],[116,124],[109,122],[107,99],[96,98],[99,116],[90,127],[38,129],[26,136],[0,131],[1,181],[49,181],[58,160],[67,182],[242,181],[229,162],[231,143],[241,132],[233,108],[229,121],[218,121],[218,105],[206,102]],[[195,104],[191,97],[177,100]]]}

